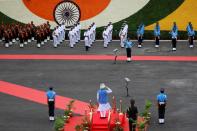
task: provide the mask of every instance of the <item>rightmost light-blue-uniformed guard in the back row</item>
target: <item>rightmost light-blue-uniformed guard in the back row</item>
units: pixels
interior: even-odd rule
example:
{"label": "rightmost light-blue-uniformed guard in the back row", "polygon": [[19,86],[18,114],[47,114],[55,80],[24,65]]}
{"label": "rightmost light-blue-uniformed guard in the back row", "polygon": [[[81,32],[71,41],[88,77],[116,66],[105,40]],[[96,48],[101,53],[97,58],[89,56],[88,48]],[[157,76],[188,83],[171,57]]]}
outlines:
{"label": "rightmost light-blue-uniformed guard in the back row", "polygon": [[193,29],[193,26],[192,26],[191,22],[189,22],[186,30],[187,30],[187,34],[188,34],[189,47],[193,48],[194,47],[195,31]]}

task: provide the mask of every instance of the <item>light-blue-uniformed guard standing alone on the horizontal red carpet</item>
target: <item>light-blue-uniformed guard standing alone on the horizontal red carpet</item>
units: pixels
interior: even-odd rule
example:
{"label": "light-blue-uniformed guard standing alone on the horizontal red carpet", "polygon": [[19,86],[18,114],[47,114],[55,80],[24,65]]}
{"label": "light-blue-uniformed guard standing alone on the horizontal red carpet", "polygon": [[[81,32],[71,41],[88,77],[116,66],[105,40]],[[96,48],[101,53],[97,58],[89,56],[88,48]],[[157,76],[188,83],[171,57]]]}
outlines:
{"label": "light-blue-uniformed guard standing alone on the horizontal red carpet", "polygon": [[134,43],[131,42],[129,38],[127,38],[124,41],[124,47],[126,48],[126,52],[127,52],[127,62],[131,61],[131,48],[133,45],[134,45]]}

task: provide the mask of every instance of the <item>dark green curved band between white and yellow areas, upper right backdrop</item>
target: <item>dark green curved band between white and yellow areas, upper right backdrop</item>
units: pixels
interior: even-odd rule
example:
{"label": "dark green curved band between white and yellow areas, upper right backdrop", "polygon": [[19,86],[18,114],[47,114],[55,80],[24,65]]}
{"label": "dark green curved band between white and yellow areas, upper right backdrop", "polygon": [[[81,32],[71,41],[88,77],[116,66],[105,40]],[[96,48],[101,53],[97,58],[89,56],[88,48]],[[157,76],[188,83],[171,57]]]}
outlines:
{"label": "dark green curved band between white and yellow areas, upper right backdrop", "polygon": [[184,0],[150,0],[134,15],[115,23],[115,29],[119,29],[125,20],[128,21],[130,30],[136,30],[141,22],[145,25],[153,24],[174,12],[183,2]]}

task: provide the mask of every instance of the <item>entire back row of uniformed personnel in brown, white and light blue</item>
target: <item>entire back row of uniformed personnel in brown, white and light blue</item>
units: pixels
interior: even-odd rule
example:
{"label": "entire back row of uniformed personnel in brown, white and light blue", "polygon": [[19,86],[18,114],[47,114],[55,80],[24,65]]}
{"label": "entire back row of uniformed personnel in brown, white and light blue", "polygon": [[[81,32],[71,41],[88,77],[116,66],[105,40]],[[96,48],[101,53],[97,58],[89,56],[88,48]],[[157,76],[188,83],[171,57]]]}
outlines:
{"label": "entire back row of uniformed personnel in brown, white and light blue", "polygon": [[[141,23],[136,31],[137,40],[138,40],[138,48],[143,46],[143,37],[145,32],[145,25]],[[119,37],[120,37],[120,46],[122,48],[125,47],[124,41],[127,39],[129,26],[125,21],[120,29]],[[192,23],[189,22],[186,27],[188,33],[188,42],[189,47],[194,47],[194,37],[195,31],[192,26]],[[71,48],[74,47],[76,43],[81,40],[81,25],[80,23],[75,24],[70,28],[68,32],[66,32],[65,24],[61,24],[53,29],[53,33],[51,33],[51,28],[49,22],[46,22],[42,25],[35,26],[33,22],[29,24],[20,24],[20,23],[12,23],[12,24],[0,24],[0,41],[4,41],[5,47],[11,46],[16,41],[20,43],[20,47],[24,47],[24,45],[28,44],[32,40],[37,41],[37,47],[41,47],[44,45],[50,38],[53,39],[53,46],[57,47],[60,43],[62,43],[65,38],[69,38],[69,46]],[[113,34],[113,24],[109,22],[109,24],[103,30],[103,46],[104,48],[108,47],[108,44],[112,41]],[[176,51],[177,37],[178,37],[178,27],[176,22],[172,25],[172,30],[169,32],[172,40],[172,50]],[[160,25],[157,22],[154,28],[154,37],[155,37],[155,47],[158,48],[160,45]],[[87,30],[84,32],[84,41],[85,41],[85,50],[88,51],[92,46],[93,42],[96,39],[96,24],[93,22]]]}

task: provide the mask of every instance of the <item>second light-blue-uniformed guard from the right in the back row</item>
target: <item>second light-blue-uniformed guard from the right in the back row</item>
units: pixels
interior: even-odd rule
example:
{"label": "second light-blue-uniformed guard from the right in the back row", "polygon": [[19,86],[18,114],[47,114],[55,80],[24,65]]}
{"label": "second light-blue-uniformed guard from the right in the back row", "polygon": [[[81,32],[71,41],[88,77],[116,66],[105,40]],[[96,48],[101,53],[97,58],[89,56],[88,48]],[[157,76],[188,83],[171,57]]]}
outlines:
{"label": "second light-blue-uniformed guard from the right in the back row", "polygon": [[178,36],[178,27],[176,22],[173,23],[172,30],[170,32],[172,38],[172,51],[176,51],[176,43],[177,43],[177,36]]}

